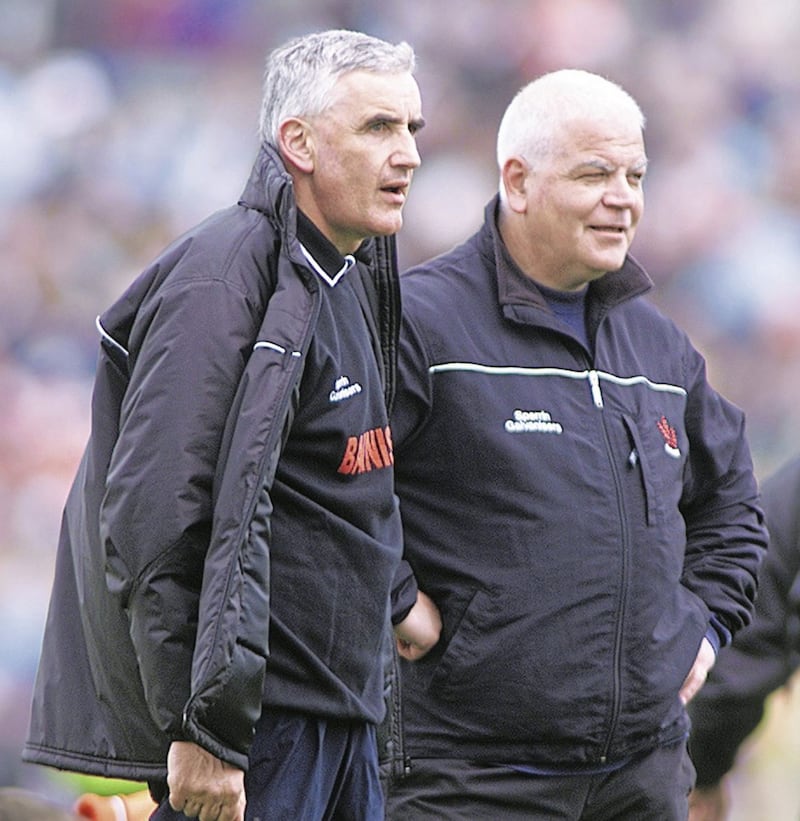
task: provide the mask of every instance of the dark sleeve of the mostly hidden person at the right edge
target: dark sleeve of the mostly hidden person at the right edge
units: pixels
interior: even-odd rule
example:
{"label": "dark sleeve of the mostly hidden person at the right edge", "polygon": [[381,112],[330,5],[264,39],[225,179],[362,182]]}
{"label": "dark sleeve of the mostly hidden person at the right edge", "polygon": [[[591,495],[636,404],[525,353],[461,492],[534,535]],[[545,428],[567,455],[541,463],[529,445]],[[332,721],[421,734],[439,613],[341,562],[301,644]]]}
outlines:
{"label": "dark sleeve of the mostly hidden person at the right edge", "polygon": [[770,548],[753,622],[723,649],[689,705],[698,786],[716,784],[761,721],[764,702],[800,665],[800,458],[764,482]]}

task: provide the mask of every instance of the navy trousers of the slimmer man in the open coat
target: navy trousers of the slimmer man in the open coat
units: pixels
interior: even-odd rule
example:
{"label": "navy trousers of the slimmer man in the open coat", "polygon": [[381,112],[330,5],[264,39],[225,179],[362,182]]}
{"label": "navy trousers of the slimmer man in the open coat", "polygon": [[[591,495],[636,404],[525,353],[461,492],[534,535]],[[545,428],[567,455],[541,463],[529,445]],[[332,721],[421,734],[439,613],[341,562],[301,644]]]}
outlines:
{"label": "navy trousers of the slimmer man in the open coat", "polygon": [[[270,713],[256,725],[246,821],[383,821],[375,727]],[[165,797],[151,821],[183,821]]]}

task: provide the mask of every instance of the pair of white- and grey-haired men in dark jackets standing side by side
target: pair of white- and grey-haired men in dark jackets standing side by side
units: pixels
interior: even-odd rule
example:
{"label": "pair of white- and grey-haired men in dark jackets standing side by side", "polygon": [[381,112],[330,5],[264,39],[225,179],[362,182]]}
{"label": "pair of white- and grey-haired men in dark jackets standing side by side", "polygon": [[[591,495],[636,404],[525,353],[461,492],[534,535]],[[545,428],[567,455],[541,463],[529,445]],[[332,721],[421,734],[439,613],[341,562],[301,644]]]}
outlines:
{"label": "pair of white- and grey-haired men in dark jackets standing side by side", "polygon": [[524,88],[396,362],[413,68],[276,50],[242,199],[100,317],[26,757],[146,779],[159,821],[381,818],[394,577],[391,818],[685,818],[685,704],[766,534],[742,414],[628,255],[644,118],[587,72]]}

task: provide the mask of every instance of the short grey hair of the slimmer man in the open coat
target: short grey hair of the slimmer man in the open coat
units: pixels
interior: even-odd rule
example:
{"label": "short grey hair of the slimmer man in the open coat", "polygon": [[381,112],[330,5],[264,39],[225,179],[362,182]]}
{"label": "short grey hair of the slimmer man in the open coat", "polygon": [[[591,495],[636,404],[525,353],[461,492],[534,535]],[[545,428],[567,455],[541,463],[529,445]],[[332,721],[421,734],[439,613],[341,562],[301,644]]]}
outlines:
{"label": "short grey hair of the slimmer man in the open coat", "polygon": [[414,50],[406,42],[387,43],[357,31],[333,29],[295,37],[272,51],[264,71],[259,122],[262,143],[278,144],[288,117],[321,114],[336,81],[351,71],[413,73]]}

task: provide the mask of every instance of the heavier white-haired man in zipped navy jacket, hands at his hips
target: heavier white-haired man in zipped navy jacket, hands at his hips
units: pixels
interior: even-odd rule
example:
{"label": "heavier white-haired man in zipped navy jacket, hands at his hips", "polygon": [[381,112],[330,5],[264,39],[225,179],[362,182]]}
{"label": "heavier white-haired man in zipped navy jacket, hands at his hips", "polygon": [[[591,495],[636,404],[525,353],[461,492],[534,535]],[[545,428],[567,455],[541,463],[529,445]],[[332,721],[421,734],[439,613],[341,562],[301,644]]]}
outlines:
{"label": "heavier white-haired man in zipped navy jacket, hands at his hips", "polygon": [[643,126],[534,80],[482,228],[401,277],[393,821],[686,818],[686,704],[767,537],[743,415],[629,255]]}

